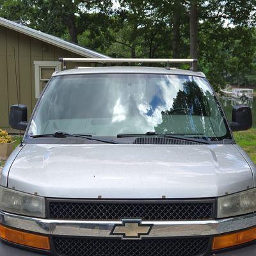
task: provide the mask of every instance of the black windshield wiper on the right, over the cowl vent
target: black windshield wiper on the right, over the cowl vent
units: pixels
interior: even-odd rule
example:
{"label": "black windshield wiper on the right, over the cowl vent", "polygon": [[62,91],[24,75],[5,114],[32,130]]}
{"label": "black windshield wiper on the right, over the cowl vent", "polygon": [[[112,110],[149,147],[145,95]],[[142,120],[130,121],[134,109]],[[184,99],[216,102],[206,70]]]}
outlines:
{"label": "black windshield wiper on the right, over the cowl vent", "polygon": [[171,134],[164,134],[164,133],[157,133],[157,132],[145,132],[145,133],[131,133],[131,134],[117,134],[117,138],[124,138],[124,137],[141,137],[141,136],[157,136],[157,137],[165,137],[165,138],[172,138],[177,140],[183,141],[193,141],[202,144],[209,144],[209,140],[205,139],[197,139],[197,138],[188,138],[184,136],[175,136]]}

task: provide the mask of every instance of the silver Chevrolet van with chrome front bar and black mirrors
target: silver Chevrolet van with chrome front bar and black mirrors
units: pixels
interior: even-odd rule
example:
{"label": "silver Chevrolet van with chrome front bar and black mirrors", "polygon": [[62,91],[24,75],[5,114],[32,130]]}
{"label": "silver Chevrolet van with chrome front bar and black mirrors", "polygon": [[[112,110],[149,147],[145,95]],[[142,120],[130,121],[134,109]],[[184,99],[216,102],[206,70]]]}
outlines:
{"label": "silver Chevrolet van with chrome front bar and black mirrors", "polygon": [[202,72],[63,70],[29,122],[21,104],[9,118],[26,132],[1,175],[1,256],[256,255],[256,168],[232,136],[251,109],[228,123]]}

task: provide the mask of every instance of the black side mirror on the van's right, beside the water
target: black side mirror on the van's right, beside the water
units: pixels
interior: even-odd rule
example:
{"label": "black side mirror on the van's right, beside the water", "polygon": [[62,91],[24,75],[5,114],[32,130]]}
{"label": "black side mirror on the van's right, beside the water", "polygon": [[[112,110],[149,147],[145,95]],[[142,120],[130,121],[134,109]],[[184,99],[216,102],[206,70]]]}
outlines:
{"label": "black side mirror on the van's right, beside the water", "polygon": [[234,107],[230,127],[234,132],[252,128],[252,109],[244,105]]}

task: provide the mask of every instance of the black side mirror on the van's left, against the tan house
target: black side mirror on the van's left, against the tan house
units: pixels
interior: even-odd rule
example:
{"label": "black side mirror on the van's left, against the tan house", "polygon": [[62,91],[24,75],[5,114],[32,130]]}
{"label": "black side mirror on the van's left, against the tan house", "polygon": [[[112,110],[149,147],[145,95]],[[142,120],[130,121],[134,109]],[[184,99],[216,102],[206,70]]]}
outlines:
{"label": "black side mirror on the van's left, against the tan house", "polygon": [[9,113],[9,124],[13,129],[25,131],[28,126],[28,111],[25,105],[12,105]]}

